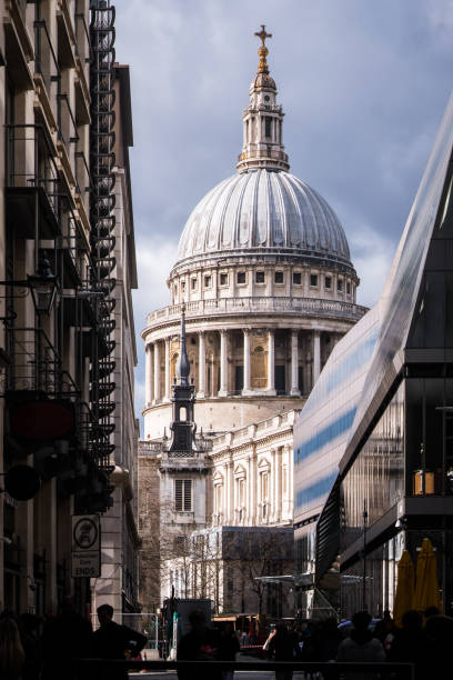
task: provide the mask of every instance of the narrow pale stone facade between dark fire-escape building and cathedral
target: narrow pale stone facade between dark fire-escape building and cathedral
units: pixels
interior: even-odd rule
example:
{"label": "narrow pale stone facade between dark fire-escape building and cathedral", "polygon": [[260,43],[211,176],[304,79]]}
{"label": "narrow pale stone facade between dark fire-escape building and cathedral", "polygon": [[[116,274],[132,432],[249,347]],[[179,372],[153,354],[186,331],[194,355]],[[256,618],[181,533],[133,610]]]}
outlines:
{"label": "narrow pale stone facade between dark fire-escape building and cathedral", "polygon": [[[115,114],[113,146],[114,226],[105,241],[113,246],[111,353],[114,389],[109,399],[114,430],[112,466],[109,481],[114,486],[113,506],[101,519],[102,572],[93,582],[93,609],[107,602],[119,613],[139,611],[138,586],[138,468],[139,424],[134,412],[134,367],[137,366],[135,330],[131,290],[137,289],[135,242],[132,211],[129,148],[133,144],[129,67],[114,64],[113,91]],[[113,303],[113,302],[112,302]]]}

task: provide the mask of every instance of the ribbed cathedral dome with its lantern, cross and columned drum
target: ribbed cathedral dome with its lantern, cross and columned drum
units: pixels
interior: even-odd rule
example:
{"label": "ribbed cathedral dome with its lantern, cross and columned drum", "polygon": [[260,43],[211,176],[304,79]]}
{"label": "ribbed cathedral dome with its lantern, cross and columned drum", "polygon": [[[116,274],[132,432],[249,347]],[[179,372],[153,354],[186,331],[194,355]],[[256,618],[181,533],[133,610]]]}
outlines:
{"label": "ribbed cathedral dome with its lantern, cross and columned drum", "polygon": [[244,111],[238,172],[194,208],[145,343],[147,439],[171,419],[171,383],[185,306],[187,351],[205,433],[301,408],[332,348],[366,311],[329,203],[290,172],[283,112],[269,74],[265,27]]}

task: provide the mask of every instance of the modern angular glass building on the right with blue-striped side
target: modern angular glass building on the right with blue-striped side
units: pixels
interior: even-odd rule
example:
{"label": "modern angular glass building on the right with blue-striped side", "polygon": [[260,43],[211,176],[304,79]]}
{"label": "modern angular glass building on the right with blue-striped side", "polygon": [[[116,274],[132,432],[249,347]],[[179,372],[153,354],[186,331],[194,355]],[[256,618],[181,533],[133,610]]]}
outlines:
{"label": "modern angular glass building on the right with blue-striped side", "polygon": [[452,146],[453,98],[383,293],[336,344],[294,427],[295,557],[309,616],[313,592],[344,616],[392,609],[401,552],[415,562],[424,537],[452,609]]}

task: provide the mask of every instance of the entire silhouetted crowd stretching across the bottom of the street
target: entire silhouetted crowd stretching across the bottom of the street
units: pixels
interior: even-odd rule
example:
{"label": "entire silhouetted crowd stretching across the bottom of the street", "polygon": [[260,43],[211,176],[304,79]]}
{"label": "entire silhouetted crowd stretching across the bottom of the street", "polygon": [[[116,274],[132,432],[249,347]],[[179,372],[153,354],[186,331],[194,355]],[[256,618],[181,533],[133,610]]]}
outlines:
{"label": "entire silhouetted crowd stretching across the bottom of the street", "polygon": [[[60,680],[67,674],[68,663],[74,659],[124,660],[138,657],[147,637],[113,621],[113,609],[103,604],[98,609],[99,628],[76,612],[71,598],[63,602],[59,617],[42,622],[30,613],[17,618],[10,612],[0,614],[0,678],[1,680]],[[240,651],[240,638],[231,622],[222,630],[207,624],[202,611],[190,617],[191,630],[178,644],[179,661],[218,660],[233,662]],[[40,633],[38,631],[41,631]],[[372,620],[361,611],[351,621],[338,624],[335,619],[304,621],[288,626],[281,621],[272,628],[263,650],[274,661],[316,662],[411,662],[415,679],[451,677],[450,644],[453,642],[453,619],[430,608],[423,614],[406,611],[397,628],[384,612]],[[195,672],[195,674],[194,674]],[[232,680],[234,667],[223,664],[213,670],[207,667],[181,666],[180,680]],[[124,666],[109,670],[109,680],[127,680]],[[291,680],[293,671],[276,671],[276,680]],[[370,674],[349,671],[348,680],[366,680]]]}

